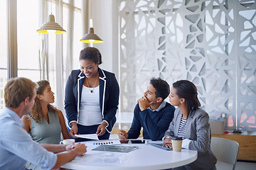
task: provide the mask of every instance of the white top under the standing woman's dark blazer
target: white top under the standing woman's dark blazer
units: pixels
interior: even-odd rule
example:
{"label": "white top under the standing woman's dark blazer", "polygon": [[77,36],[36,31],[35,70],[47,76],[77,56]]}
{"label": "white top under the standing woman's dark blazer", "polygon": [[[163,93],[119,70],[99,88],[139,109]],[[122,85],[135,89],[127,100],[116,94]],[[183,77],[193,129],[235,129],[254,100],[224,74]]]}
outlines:
{"label": "white top under the standing woman's dark blazer", "polygon": [[99,125],[102,123],[100,111],[100,86],[92,88],[82,86],[81,103],[79,110],[78,124]]}

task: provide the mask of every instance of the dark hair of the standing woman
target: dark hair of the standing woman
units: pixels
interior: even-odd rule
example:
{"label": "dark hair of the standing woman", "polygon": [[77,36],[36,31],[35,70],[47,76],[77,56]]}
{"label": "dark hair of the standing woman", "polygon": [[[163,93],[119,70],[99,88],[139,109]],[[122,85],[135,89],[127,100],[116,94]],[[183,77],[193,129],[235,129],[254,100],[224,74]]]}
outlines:
{"label": "dark hair of the standing woman", "polygon": [[100,51],[95,47],[85,47],[85,49],[80,51],[79,61],[80,60],[90,60],[95,64],[100,62],[102,64],[102,56]]}

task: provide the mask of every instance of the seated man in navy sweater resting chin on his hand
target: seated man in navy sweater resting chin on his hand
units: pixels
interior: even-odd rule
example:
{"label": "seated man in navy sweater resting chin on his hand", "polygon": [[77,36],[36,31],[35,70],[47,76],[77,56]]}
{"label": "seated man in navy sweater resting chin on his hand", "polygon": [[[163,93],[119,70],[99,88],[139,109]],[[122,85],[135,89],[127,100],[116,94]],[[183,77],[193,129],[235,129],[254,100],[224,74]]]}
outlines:
{"label": "seated man in navy sweater resting chin on his hand", "polygon": [[174,118],[174,106],[164,101],[169,96],[170,86],[161,78],[150,79],[149,86],[134,108],[134,118],[128,132],[119,131],[119,139],[137,139],[143,128],[145,140],[161,140]]}

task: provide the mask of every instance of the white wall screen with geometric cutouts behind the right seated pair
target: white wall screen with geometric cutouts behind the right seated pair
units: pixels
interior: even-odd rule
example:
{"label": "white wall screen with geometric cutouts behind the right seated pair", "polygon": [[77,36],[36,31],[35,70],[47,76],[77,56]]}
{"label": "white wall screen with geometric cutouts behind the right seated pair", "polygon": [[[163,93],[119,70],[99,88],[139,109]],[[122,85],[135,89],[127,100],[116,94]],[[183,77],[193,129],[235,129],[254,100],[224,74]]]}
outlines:
{"label": "white wall screen with geometric cutouts behind the right seated pair", "polygon": [[256,130],[255,1],[119,1],[121,112],[151,77],[188,79],[210,115]]}

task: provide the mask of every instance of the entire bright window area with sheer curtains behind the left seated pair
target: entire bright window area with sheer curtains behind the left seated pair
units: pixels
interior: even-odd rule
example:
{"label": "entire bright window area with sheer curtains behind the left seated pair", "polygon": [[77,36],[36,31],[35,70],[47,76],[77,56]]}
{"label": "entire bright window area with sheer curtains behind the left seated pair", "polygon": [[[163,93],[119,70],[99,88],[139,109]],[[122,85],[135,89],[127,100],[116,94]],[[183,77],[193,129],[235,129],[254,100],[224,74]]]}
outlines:
{"label": "entire bright window area with sheer curtains behind the left seated pair", "polygon": [[[0,21],[1,23],[4,23],[0,28],[0,113],[2,113],[5,107],[4,86],[6,85],[8,75],[7,50],[9,47],[7,46],[8,34],[6,16],[8,4],[6,4],[6,2],[7,1],[2,1],[0,7]],[[50,86],[55,93],[56,100],[53,105],[57,106],[63,111],[64,89],[62,87],[66,84],[66,75],[70,74],[70,68],[73,69],[74,67],[75,69],[79,69],[78,57],[82,48],[82,43],[79,41],[82,37],[82,1],[74,1],[74,4],[68,4],[70,1],[63,1],[63,6],[58,6],[58,3],[61,1],[53,1],[53,4],[51,4],[51,1],[49,0],[12,2],[13,4],[16,3],[17,6],[17,75],[18,77],[26,77],[32,81],[48,79],[50,81]],[[59,24],[68,31],[68,33],[63,35],[44,35],[47,38],[46,52],[48,52],[48,64],[42,64],[40,55],[40,52],[42,51],[42,35],[36,32],[36,30],[40,27],[39,21],[41,20],[41,16],[39,11],[41,11],[41,8],[43,8],[40,4],[41,2],[46,2],[47,5],[46,10],[43,10],[43,13],[46,13],[47,15],[46,20],[48,20],[50,10],[52,10],[53,15],[55,16],[55,21],[57,23],[59,23],[57,19],[63,21],[63,23]],[[56,15],[57,7],[60,7],[58,9],[61,9],[58,11],[58,15]],[[74,13],[74,15],[72,16],[70,13]],[[16,17],[16,15],[11,17]],[[68,30],[68,26],[72,26],[73,29]],[[11,27],[14,28],[14,26]],[[68,50],[71,52],[68,53]],[[67,58],[72,59],[72,63],[74,63],[74,66],[72,65],[68,70],[65,69],[67,65],[70,65],[70,60],[65,62]],[[48,77],[42,76],[45,74],[45,72],[41,74],[43,70],[42,68],[45,67],[48,68]],[[65,72],[67,72],[67,74],[65,74]]]}

